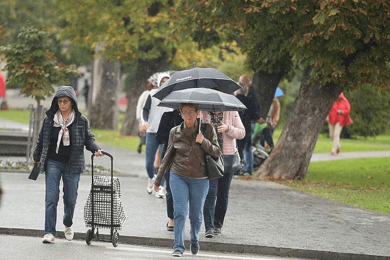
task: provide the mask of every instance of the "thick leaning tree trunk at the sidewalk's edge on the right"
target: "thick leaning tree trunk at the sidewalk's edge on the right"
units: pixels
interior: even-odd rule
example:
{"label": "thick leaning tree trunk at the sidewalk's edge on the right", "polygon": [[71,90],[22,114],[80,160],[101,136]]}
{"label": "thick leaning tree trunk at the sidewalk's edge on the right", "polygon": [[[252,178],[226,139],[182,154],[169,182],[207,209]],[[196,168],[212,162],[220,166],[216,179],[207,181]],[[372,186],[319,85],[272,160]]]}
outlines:
{"label": "thick leaning tree trunk at the sidewalk's edge on the right", "polygon": [[334,101],[339,85],[309,85],[311,68],[303,71],[299,93],[282,134],[270,157],[257,169],[256,179],[304,179],[315,142]]}

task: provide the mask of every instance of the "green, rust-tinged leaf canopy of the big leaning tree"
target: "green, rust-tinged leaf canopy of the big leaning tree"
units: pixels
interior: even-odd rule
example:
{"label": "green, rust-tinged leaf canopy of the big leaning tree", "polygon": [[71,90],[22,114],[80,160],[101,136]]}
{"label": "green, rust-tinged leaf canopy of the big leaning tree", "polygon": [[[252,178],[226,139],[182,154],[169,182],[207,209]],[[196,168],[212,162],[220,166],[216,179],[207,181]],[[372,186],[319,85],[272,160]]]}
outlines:
{"label": "green, rust-tinged leaf canopy of the big leaning tree", "polygon": [[389,90],[386,0],[195,0],[187,8],[194,34],[209,36],[208,44],[240,42],[255,72],[312,67],[311,82],[323,86],[355,89],[370,82]]}

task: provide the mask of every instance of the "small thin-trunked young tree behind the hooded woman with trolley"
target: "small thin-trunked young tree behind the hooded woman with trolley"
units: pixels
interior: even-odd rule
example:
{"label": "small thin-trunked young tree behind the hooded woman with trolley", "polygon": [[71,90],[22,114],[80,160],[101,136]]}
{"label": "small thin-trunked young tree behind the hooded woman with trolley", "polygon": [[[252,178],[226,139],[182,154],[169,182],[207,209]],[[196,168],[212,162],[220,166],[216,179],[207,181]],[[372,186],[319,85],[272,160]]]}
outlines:
{"label": "small thin-trunked young tree behind the hooded woman with trolley", "polygon": [[[0,46],[9,72],[7,84],[20,85],[20,94],[37,100],[36,122],[40,122],[40,100],[50,97],[54,85],[69,83],[77,74],[74,66],[58,62],[47,48],[47,34],[35,27],[21,28],[16,43]],[[39,133],[39,123],[35,133]],[[37,136],[34,137],[36,140]]]}

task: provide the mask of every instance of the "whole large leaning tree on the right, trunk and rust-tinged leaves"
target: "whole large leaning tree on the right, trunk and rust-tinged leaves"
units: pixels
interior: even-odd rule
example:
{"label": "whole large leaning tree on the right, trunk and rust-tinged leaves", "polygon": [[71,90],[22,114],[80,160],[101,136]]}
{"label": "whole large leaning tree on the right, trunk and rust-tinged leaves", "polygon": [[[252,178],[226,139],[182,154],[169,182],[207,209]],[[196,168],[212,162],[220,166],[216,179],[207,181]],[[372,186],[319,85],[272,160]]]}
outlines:
{"label": "whole large leaning tree on the right, trunk and rust-tinged leaves", "polygon": [[254,85],[263,89],[259,92],[269,103],[279,80],[303,68],[285,128],[256,178],[305,178],[321,126],[338,95],[366,83],[389,90],[387,1],[185,2],[193,34],[207,37],[208,44],[239,42],[254,70]]}

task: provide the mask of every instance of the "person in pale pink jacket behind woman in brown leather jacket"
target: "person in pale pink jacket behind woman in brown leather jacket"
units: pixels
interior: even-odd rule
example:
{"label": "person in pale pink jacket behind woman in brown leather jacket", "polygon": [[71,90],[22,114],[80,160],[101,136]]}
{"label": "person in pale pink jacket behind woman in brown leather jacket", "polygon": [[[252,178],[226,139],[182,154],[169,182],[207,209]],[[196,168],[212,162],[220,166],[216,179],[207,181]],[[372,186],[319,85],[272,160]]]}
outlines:
{"label": "person in pale pink jacket behind woman in brown leather jacket", "polygon": [[[203,208],[205,237],[213,238],[214,235],[221,235],[221,228],[228,208],[230,183],[234,172],[241,168],[235,140],[244,138],[245,128],[237,111],[203,111],[202,121],[214,125],[225,163],[223,177],[209,180],[209,191]],[[229,160],[233,159],[235,159],[237,169],[231,167],[232,161],[229,163]]]}

